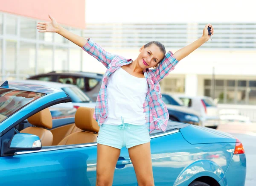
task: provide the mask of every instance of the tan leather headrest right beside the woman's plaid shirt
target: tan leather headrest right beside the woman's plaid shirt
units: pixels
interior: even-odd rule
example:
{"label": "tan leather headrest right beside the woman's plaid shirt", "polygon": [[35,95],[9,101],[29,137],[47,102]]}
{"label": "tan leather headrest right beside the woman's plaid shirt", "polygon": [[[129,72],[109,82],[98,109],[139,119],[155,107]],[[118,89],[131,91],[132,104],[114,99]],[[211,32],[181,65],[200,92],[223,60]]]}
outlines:
{"label": "tan leather headrest right beside the woman's plaid shirt", "polygon": [[88,132],[99,132],[99,125],[93,118],[94,108],[79,107],[76,110],[75,124],[77,128]]}

